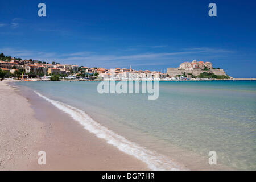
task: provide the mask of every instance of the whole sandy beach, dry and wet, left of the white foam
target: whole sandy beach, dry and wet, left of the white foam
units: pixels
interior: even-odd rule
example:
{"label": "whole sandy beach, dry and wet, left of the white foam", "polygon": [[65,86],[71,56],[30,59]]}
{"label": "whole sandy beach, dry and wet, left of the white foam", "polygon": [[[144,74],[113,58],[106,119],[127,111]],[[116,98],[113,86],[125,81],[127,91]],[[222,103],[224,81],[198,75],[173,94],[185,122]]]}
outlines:
{"label": "whole sandy beach, dry and wet, left of the white foam", "polygon": [[[0,170],[147,170],[26,90],[0,82]],[[46,165],[38,152],[46,151]]]}

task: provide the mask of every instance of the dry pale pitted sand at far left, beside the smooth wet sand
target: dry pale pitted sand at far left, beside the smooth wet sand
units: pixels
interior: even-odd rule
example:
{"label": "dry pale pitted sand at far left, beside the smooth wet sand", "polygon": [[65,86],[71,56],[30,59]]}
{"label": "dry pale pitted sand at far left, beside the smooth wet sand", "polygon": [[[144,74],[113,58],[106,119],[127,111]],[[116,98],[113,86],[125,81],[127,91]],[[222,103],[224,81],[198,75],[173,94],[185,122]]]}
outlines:
{"label": "dry pale pitted sand at far left, beside the smooth wet sand", "polygon": [[0,82],[0,169],[28,170],[37,162],[44,125],[34,118],[27,99],[9,82]]}

